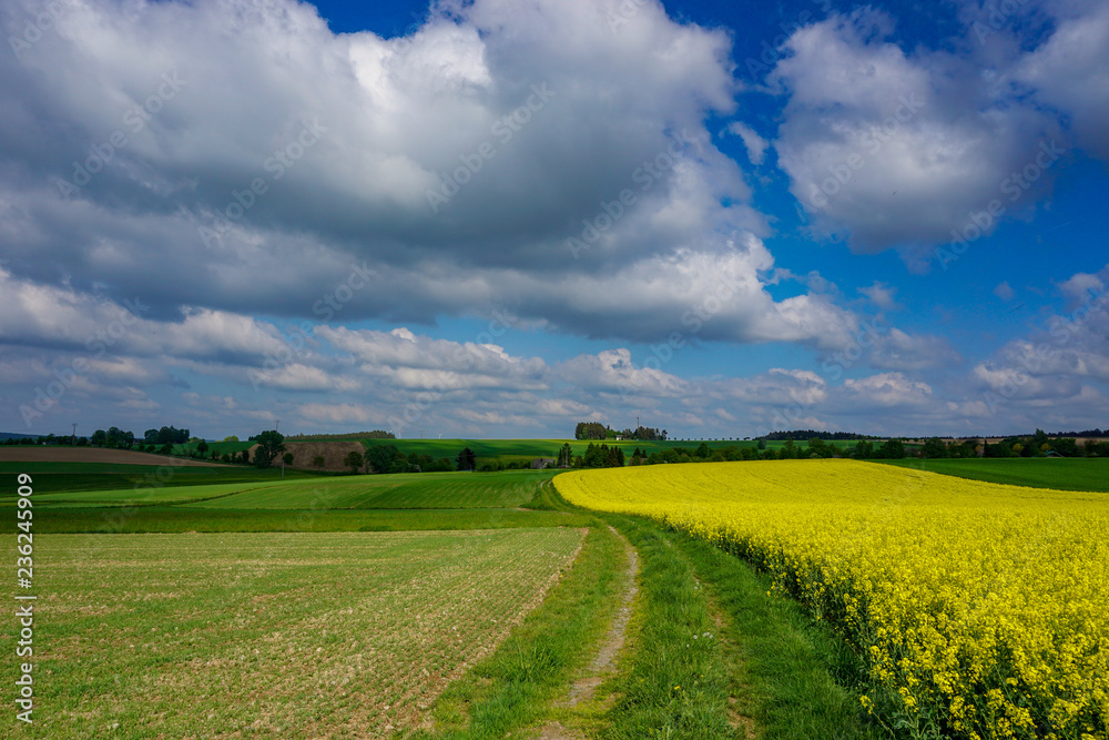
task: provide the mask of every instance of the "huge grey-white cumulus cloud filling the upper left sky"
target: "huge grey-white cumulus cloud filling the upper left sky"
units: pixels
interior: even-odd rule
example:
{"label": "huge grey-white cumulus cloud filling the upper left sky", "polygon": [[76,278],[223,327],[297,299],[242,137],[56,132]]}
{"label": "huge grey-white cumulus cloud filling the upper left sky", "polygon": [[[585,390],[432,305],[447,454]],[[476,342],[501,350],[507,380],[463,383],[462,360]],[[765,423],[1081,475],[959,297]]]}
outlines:
{"label": "huge grey-white cumulus cloud filling the upper left sky", "polygon": [[821,306],[763,292],[764,219],[704,128],[735,108],[729,36],[653,2],[612,33],[615,8],[440,3],[385,39],[292,0],[74,4],[0,60],[0,256],[159,317],[502,306],[630,339],[659,316],[613,303],[651,295],[669,332],[691,290],[742,273],[739,328],[706,337],[805,338]]}

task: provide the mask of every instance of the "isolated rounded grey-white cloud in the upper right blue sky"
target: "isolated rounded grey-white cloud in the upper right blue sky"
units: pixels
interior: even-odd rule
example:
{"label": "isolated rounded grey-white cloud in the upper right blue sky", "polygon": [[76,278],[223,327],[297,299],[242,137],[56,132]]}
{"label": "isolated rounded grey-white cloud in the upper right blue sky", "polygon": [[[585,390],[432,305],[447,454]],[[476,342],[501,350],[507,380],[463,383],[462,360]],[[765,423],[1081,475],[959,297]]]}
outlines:
{"label": "isolated rounded grey-white cloud in the upper right blue sky", "polygon": [[[770,75],[788,94],[774,146],[791,191],[820,231],[859,252],[949,242],[990,201],[1041,195],[1066,152],[1055,120],[1008,77],[908,53],[893,33],[882,11],[835,14],[795,31]],[[1026,166],[1034,180],[1010,179]]]}

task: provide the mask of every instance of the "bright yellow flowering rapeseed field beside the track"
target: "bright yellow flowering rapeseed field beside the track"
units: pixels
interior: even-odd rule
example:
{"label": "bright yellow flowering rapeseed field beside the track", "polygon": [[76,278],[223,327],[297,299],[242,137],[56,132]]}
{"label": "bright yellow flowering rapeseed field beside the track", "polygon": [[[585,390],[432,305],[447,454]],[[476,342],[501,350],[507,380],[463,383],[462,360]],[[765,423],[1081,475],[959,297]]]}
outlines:
{"label": "bright yellow flowering rapeseed field beside the track", "polygon": [[889,726],[1107,737],[1105,493],[853,460],[574,472],[554,484],[573,504],[651,517],[769,572],[863,657],[859,701]]}

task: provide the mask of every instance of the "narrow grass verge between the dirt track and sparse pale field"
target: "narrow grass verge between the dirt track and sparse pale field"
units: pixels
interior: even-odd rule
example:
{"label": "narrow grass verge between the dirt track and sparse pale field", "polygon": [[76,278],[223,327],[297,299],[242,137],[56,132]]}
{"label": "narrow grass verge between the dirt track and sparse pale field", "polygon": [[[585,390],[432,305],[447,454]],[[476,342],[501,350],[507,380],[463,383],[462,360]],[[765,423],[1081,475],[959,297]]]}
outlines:
{"label": "narrow grass verge between the dirt track and sparse pale field", "polygon": [[492,656],[448,687],[436,703],[436,729],[415,738],[502,738],[541,720],[604,633],[623,565],[620,540],[593,526],[563,580]]}

